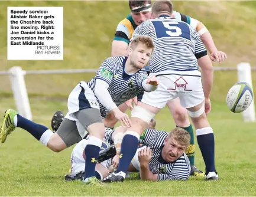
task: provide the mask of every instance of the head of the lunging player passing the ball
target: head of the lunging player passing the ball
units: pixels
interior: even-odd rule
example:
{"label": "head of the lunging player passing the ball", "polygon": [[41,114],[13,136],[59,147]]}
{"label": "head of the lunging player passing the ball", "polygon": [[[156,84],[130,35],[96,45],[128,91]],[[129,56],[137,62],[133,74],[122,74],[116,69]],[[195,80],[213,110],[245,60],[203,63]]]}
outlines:
{"label": "head of the lunging player passing the ball", "polygon": [[129,61],[135,69],[144,68],[154,51],[154,42],[147,35],[138,35],[131,41],[128,50]]}

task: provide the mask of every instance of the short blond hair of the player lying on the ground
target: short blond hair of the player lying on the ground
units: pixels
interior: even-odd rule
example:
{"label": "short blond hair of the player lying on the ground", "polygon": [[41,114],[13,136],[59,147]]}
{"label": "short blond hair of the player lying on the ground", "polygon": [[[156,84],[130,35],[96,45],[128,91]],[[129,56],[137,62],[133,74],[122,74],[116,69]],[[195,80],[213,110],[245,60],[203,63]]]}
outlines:
{"label": "short blond hair of the player lying on the ground", "polygon": [[189,146],[190,144],[190,134],[186,130],[176,127],[171,130],[168,134],[168,138],[172,137],[176,142],[178,142],[182,146]]}

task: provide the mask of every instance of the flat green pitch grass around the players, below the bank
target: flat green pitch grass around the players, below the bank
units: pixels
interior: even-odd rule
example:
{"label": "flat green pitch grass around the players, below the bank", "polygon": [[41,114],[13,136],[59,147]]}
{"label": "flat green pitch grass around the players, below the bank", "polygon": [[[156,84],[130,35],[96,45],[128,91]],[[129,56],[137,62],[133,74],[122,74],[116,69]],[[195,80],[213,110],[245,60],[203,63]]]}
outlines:
{"label": "flat green pitch grass around the players, below the bank", "polygon": [[[66,98],[31,97],[30,101],[34,121],[48,127],[55,110],[67,111]],[[14,100],[2,98],[0,114],[9,107],[15,109]],[[158,129],[170,131],[174,127],[168,109],[163,109],[156,119]],[[231,113],[225,103],[217,102],[212,103],[209,121],[215,132],[216,168],[221,178],[218,182],[202,178],[185,182],[126,180],[106,188],[64,182],[72,148],[53,153],[29,133],[17,129],[0,145],[0,196],[255,196],[256,123],[242,122],[241,114]],[[204,169],[197,143],[196,165]]]}

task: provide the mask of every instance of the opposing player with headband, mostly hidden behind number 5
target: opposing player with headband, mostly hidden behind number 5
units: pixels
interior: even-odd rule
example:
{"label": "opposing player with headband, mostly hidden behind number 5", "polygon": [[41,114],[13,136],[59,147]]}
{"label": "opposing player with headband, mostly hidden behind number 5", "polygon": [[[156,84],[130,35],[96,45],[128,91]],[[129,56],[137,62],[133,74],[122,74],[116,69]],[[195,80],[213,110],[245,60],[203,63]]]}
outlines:
{"label": "opposing player with headband, mostly hidden behind number 5", "polygon": [[[124,18],[121,22],[119,22],[116,28],[114,41],[112,42],[112,51],[111,51],[112,56],[127,54],[129,40],[131,39],[134,30],[142,22],[151,18],[151,1],[131,1],[130,0],[128,4],[129,4],[129,9],[131,10],[131,14],[128,15],[126,18]],[[212,36],[210,35],[210,32],[202,22],[176,11],[173,11],[173,14],[171,15],[171,17],[176,18],[180,21],[186,22],[187,24],[190,24],[197,31],[201,40],[203,41],[203,44],[206,46],[206,48],[210,52],[210,58],[212,59],[212,61],[219,61],[219,63],[221,63],[221,61],[226,59],[225,52],[218,51],[218,49],[216,48],[213,42]],[[146,70],[147,70],[147,67],[145,67]],[[147,72],[149,73],[149,67]],[[192,165],[192,173],[195,172],[195,175],[198,175],[198,173],[201,173],[202,175],[204,175],[204,173],[202,173],[202,171],[200,170],[197,170],[195,166],[194,133],[193,133],[192,124],[190,124],[190,121],[189,121],[187,110],[180,105],[179,98],[168,101],[167,106],[173,116],[176,126],[182,127],[183,129],[187,130],[187,132],[189,132],[190,134],[190,139],[191,139],[191,142],[189,145],[190,152],[186,152],[186,154],[189,157],[190,164]],[[121,104],[119,106],[119,109],[125,112],[127,110],[127,106],[125,104]],[[114,115],[112,115],[112,120],[108,120],[108,124],[105,123],[105,126],[114,127],[117,121],[118,120],[115,120]]]}

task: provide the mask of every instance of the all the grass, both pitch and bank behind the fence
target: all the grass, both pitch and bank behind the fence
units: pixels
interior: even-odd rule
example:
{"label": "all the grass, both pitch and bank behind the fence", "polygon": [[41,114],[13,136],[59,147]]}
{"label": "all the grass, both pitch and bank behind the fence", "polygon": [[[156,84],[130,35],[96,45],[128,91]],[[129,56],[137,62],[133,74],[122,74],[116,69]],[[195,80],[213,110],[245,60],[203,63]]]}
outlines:
{"label": "all the grass, both pitch and bank behind the fence", "polygon": [[[7,6],[63,6],[64,61],[7,61]],[[246,61],[255,66],[254,1],[174,1],[174,7],[208,27],[219,50],[228,54],[221,65],[235,67]],[[98,68],[111,54],[116,25],[128,14],[127,1],[1,1],[0,70],[15,65],[24,70]],[[254,86],[255,74],[252,72]],[[67,96],[73,87],[91,77],[93,74],[26,75],[34,121],[50,127],[54,111],[67,112]],[[17,129],[0,145],[0,196],[255,196],[256,123],[242,122],[242,114],[231,113],[225,104],[226,93],[236,81],[236,71],[215,72],[209,120],[215,132],[218,182],[127,180],[107,188],[64,182],[72,149],[53,153]],[[0,114],[15,109],[8,76],[0,75],[0,98]],[[157,128],[170,131],[173,127],[172,117],[164,109],[157,115]],[[196,165],[204,168],[197,146]]]}

